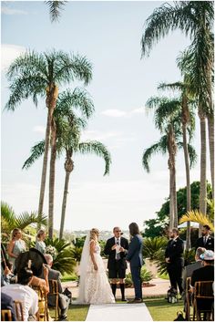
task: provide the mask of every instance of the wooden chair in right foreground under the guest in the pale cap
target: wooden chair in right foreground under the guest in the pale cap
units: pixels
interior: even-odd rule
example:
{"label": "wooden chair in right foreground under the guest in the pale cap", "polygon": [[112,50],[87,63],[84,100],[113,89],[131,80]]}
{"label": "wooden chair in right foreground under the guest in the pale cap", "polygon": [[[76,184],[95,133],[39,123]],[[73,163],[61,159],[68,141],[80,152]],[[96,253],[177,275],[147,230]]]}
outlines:
{"label": "wooden chair in right foreground under the guest in the pale cap", "polygon": [[[213,281],[201,281],[196,282],[194,287],[194,298],[193,298],[193,320],[195,318],[197,321],[201,321],[202,314],[204,315],[204,320],[210,321],[213,316],[213,289],[212,289]],[[209,308],[204,309],[200,307],[200,300],[206,303],[208,300]],[[211,306],[210,306],[211,303]],[[198,307],[199,306],[199,307]]]}

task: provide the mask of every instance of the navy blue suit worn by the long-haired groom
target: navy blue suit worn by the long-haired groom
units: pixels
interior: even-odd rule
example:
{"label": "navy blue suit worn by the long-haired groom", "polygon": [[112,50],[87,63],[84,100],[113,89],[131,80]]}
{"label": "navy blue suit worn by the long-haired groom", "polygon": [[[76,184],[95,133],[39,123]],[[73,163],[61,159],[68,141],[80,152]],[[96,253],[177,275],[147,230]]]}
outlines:
{"label": "navy blue suit worn by the long-haired groom", "polygon": [[135,288],[135,298],[142,299],[142,282],[140,277],[142,258],[143,240],[140,234],[136,234],[128,245],[128,254],[126,259],[130,262],[130,272]]}

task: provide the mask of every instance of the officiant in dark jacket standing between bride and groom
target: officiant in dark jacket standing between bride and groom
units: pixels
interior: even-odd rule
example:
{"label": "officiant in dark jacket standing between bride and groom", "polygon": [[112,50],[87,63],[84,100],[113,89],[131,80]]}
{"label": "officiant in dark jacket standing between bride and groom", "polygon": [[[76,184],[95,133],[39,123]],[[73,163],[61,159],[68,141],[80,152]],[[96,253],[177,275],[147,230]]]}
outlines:
{"label": "officiant in dark jacket standing between bride and groom", "polygon": [[113,295],[116,297],[117,282],[121,290],[121,300],[125,298],[125,277],[126,277],[126,253],[128,251],[128,239],[122,237],[119,227],[114,227],[114,236],[107,240],[104,253],[108,255],[107,268],[108,277],[111,281]]}

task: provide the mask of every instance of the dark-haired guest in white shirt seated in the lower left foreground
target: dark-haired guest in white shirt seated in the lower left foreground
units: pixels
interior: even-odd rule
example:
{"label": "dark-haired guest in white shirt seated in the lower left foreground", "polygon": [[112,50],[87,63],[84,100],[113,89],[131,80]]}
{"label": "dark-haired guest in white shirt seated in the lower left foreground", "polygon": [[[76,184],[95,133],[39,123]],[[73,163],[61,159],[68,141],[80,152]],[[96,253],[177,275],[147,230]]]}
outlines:
{"label": "dark-haired guest in white shirt seated in the lower left foreground", "polygon": [[30,287],[33,272],[25,267],[18,271],[17,284],[3,286],[2,292],[23,304],[24,321],[34,318],[38,310],[38,296]]}

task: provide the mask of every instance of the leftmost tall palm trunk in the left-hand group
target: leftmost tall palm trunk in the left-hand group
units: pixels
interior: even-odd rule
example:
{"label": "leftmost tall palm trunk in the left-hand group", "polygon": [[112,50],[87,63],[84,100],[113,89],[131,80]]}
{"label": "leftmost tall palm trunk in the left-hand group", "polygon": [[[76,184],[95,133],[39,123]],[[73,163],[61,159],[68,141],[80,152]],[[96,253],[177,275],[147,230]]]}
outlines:
{"label": "leftmost tall palm trunk in the left-hand group", "polygon": [[[46,171],[47,171],[47,158],[48,158],[48,149],[49,149],[49,138],[50,138],[50,128],[52,120],[52,111],[48,109],[47,121],[46,121],[46,139],[45,139],[45,151],[44,151],[44,161],[42,169],[42,177],[40,184],[40,194],[39,194],[39,206],[38,206],[38,217],[43,213],[44,207],[44,196],[45,196],[45,187],[46,187]],[[40,229],[41,224],[37,224],[37,229]]]}

